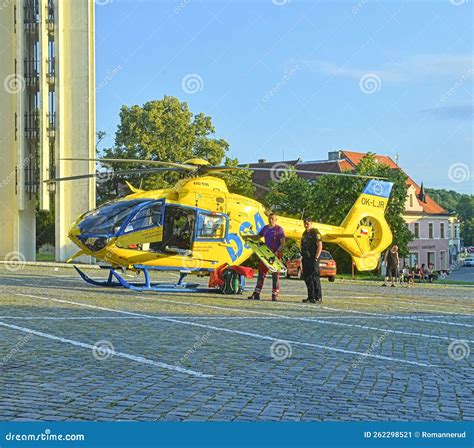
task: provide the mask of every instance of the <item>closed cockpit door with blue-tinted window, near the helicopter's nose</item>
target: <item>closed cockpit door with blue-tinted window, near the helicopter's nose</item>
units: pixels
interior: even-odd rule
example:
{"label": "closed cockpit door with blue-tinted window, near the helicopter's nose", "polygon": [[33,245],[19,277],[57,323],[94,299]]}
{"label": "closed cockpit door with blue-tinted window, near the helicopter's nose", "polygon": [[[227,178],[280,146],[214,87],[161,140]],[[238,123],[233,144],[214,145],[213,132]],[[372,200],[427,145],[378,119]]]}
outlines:
{"label": "closed cockpit door with blue-tinted window, near the helicopter's nose", "polygon": [[150,250],[152,244],[163,240],[163,202],[152,202],[140,207],[124,223],[116,240],[118,247],[134,250]]}

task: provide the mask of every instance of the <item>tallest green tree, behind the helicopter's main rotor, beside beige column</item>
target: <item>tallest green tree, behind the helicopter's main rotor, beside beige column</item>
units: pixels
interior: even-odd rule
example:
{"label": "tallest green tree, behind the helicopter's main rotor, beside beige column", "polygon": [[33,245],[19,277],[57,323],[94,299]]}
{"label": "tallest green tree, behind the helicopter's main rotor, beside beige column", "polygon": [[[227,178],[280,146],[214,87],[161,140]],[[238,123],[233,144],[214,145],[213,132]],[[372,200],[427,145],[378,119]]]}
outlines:
{"label": "tallest green tree, behind the helicopter's main rotor, beside beige column", "polygon": [[[100,136],[99,136],[100,137]],[[229,149],[226,140],[216,138],[212,119],[203,113],[194,115],[186,102],[172,96],[148,101],[143,106],[122,106],[115,144],[103,151],[103,157],[139,159],[164,162],[185,162],[202,158],[211,165],[219,165]],[[112,172],[151,168],[144,163],[107,163]],[[238,160],[226,157],[225,165],[237,166]],[[143,189],[166,188],[174,185],[186,173],[163,170],[138,179]],[[119,193],[124,180],[137,184],[136,175],[110,176],[98,182],[99,202],[112,199]],[[224,174],[231,192],[252,196],[251,173],[236,171]]]}

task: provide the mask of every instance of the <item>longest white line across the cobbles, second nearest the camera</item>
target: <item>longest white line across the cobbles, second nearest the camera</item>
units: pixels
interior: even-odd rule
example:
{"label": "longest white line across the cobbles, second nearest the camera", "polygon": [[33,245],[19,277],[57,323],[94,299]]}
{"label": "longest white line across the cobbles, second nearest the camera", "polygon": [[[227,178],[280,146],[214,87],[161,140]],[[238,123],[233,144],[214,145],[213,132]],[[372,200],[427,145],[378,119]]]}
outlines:
{"label": "longest white line across the cobbles, second nearest the camera", "polygon": [[348,354],[348,355],[356,355],[356,356],[362,356],[362,357],[368,357],[368,358],[374,358],[374,359],[382,359],[384,361],[399,362],[399,363],[402,363],[402,364],[410,364],[410,365],[415,365],[415,366],[420,366],[420,367],[432,367],[431,364],[427,364],[427,363],[424,363],[424,362],[409,361],[409,360],[406,360],[406,359],[392,358],[392,357],[383,356],[383,355],[375,355],[375,354],[367,353],[367,352],[356,352],[356,351],[353,351],[353,350],[345,350],[345,349],[342,349],[342,348],[330,347],[330,346],[319,345],[319,344],[312,344],[312,343],[309,343],[309,342],[301,342],[301,341],[293,341],[293,340],[290,340],[290,339],[275,338],[273,336],[267,336],[267,335],[262,335],[262,334],[258,334],[258,333],[251,333],[251,332],[248,332],[248,331],[231,330],[230,328],[215,327],[213,325],[205,325],[205,324],[200,324],[200,323],[197,323],[197,322],[186,322],[186,321],[173,319],[173,318],[169,318],[169,317],[153,316],[153,315],[149,315],[149,314],[135,313],[135,312],[132,312],[132,311],[117,310],[117,309],[114,309],[114,308],[106,308],[106,307],[102,307],[102,306],[90,305],[90,304],[87,304],[87,303],[73,302],[73,301],[70,301],[70,300],[53,299],[51,297],[34,296],[34,295],[31,295],[31,294],[15,294],[15,295],[22,296],[22,297],[31,297],[31,298],[34,298],[34,299],[40,299],[40,300],[46,300],[46,301],[50,300],[50,301],[58,302],[58,303],[68,303],[70,305],[77,305],[77,306],[82,306],[82,307],[85,307],[85,308],[93,308],[93,309],[103,310],[103,311],[112,311],[112,312],[115,312],[115,313],[128,314],[128,315],[131,315],[131,316],[145,316],[145,317],[148,317],[150,319],[161,320],[161,321],[164,321],[164,322],[172,322],[172,323],[177,323],[177,324],[182,324],[182,325],[189,325],[189,326],[198,327],[198,328],[206,328],[208,330],[220,331],[220,332],[223,332],[223,333],[238,334],[238,335],[241,335],[241,336],[249,336],[249,337],[252,337],[252,338],[262,339],[262,340],[266,340],[266,341],[272,341],[272,342],[274,342],[274,341],[283,341],[283,342],[287,342],[287,343],[293,344],[293,345],[317,348],[317,349],[321,349],[321,350],[325,350],[325,351],[332,351],[332,352],[336,352],[336,353],[344,353],[344,354]]}

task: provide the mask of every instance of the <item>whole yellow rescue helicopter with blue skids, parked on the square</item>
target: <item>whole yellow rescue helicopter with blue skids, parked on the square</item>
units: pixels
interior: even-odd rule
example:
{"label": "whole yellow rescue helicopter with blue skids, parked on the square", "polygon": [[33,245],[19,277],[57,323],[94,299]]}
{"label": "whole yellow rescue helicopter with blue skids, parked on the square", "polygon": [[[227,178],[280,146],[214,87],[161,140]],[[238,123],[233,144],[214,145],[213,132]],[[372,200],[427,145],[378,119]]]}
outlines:
{"label": "whole yellow rescue helicopter with blue skids, parked on the square", "polygon": [[[123,286],[139,291],[198,291],[197,285],[183,282],[187,274],[210,275],[225,264],[240,266],[254,252],[270,270],[282,269],[281,264],[273,264],[275,260],[264,251],[257,250],[258,246],[246,241],[246,236],[257,234],[266,224],[264,205],[230,193],[225,181],[213,176],[249,168],[211,166],[203,159],[184,163],[130,159],[65,160],[103,164],[147,163],[159,167],[137,171],[188,173],[188,177],[178,181],[174,187],[160,190],[144,191],[127,182],[132,194],[79,216],[70,228],[69,238],[80,250],[68,262],[81,255],[90,255],[105,263],[110,270],[107,281],[100,282],[75,266],[88,283]],[[120,173],[130,174],[130,171],[115,174]],[[46,182],[97,175],[85,174]],[[369,181],[343,222],[339,226],[322,223],[315,223],[314,226],[323,241],[338,244],[352,256],[357,269],[364,271],[377,267],[381,252],[392,241],[384,212],[393,184],[370,176],[362,177],[369,178]],[[303,221],[280,216],[278,224],[283,227],[287,238],[301,239]],[[124,270],[143,272],[144,283],[128,282],[121,275]],[[155,284],[150,281],[149,275],[154,270],[177,271],[181,276],[176,284]]]}

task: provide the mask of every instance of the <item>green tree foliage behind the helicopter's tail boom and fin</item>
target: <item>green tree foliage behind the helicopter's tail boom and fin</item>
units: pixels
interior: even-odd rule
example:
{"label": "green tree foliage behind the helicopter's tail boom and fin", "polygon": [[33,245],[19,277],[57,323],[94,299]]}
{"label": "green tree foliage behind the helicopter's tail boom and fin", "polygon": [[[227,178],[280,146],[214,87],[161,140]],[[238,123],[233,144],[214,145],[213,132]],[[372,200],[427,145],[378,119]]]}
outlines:
{"label": "green tree foliage behind the helicopter's tail boom and fin", "polygon": [[[394,183],[386,211],[386,219],[392,230],[394,244],[401,256],[408,254],[408,243],[413,239],[403,219],[407,194],[406,176],[400,170],[379,164],[373,154],[367,154],[357,166],[361,175],[385,177]],[[367,179],[344,176],[321,176],[317,181],[299,178],[289,172],[278,182],[270,184],[266,205],[289,216],[310,215],[315,221],[340,225],[357,197],[361,194]],[[332,251],[341,271],[350,271],[350,257],[334,245],[325,245]]]}

